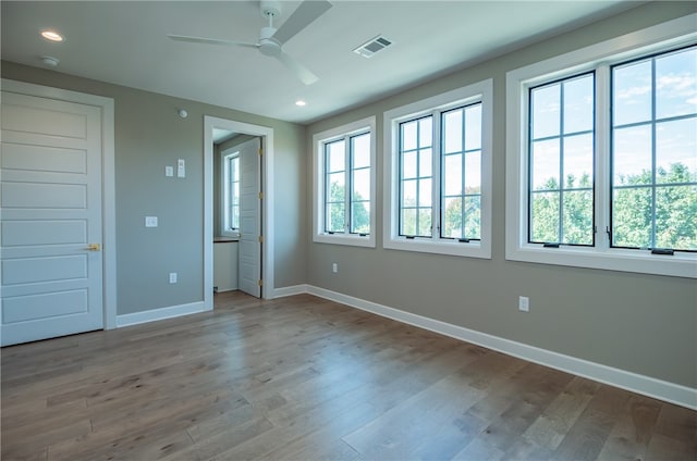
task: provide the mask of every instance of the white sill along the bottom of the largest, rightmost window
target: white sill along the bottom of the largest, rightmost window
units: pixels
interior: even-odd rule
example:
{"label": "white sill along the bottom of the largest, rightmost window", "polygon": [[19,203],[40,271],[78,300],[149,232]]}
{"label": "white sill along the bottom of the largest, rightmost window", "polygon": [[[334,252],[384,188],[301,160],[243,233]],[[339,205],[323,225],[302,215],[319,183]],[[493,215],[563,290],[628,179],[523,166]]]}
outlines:
{"label": "white sill along the bottom of the largest, rightmost window", "polygon": [[543,248],[541,245],[523,245],[518,248],[506,248],[505,259],[540,264],[697,278],[697,254],[685,252],[662,256],[651,254],[650,251],[644,250],[615,248],[590,250],[573,247]]}

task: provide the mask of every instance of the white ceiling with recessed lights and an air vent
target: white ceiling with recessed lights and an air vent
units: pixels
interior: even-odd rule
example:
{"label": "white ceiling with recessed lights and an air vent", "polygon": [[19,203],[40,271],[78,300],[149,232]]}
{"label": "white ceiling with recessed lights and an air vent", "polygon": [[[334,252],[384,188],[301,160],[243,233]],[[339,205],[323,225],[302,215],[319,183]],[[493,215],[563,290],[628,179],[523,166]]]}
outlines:
{"label": "white ceiling with recessed lights and an air vent", "polygon": [[[299,1],[283,1],[283,15]],[[511,51],[641,2],[356,1],[333,7],[284,50],[319,76],[305,86],[254,49],[178,42],[168,34],[255,42],[257,1],[2,1],[3,60],[309,123],[454,68]],[[39,36],[53,28],[62,43]],[[390,48],[365,59],[352,50],[382,34]],[[302,98],[305,108],[294,102]]]}

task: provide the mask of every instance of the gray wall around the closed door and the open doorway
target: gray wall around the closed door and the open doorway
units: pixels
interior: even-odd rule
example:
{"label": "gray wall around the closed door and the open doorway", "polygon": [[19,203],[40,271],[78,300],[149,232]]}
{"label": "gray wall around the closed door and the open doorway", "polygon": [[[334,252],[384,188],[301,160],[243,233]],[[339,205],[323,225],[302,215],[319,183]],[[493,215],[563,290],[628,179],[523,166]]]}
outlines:
{"label": "gray wall around the closed door and the open doorway", "polygon": [[[274,129],[276,284],[306,281],[305,127],[10,62],[2,77],[114,99],[118,314],[204,299],[204,115]],[[184,179],[164,177],[176,159],[186,160]],[[146,215],[158,216],[159,227],[146,229]],[[179,273],[176,285],[170,272]]]}

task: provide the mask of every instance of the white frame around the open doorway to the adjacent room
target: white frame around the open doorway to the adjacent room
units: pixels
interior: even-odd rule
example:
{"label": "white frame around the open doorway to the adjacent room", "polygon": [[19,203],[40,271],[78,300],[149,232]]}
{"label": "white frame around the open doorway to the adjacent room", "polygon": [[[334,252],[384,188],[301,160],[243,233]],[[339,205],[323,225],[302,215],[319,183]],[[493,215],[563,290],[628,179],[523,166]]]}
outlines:
{"label": "white frame around the open doorway to the adjacent room", "polygon": [[261,298],[273,297],[273,128],[204,115],[204,310],[213,309],[213,128],[261,138]]}

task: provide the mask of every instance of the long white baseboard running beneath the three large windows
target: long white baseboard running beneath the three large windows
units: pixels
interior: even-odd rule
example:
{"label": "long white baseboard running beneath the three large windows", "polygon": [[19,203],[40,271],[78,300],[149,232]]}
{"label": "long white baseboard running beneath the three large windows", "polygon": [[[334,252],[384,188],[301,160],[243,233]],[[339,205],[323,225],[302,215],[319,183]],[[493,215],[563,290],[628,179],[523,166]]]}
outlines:
{"label": "long white baseboard running beneath the three large windows", "polygon": [[313,285],[297,285],[277,289],[276,291],[281,291],[283,294],[281,296],[307,292],[455,339],[484,346],[509,356],[697,410],[697,389],[690,387],[512,341]]}

